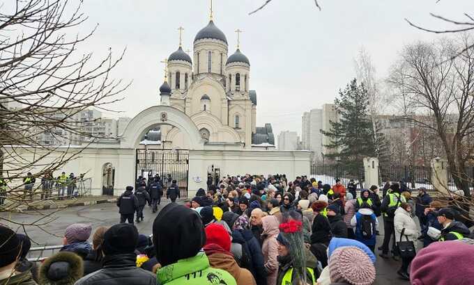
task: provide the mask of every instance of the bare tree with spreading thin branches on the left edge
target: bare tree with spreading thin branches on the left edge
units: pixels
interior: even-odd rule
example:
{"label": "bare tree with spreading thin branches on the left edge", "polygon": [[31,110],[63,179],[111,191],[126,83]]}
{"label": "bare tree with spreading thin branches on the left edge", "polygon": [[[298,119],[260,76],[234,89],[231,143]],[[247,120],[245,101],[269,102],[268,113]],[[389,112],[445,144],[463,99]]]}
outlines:
{"label": "bare tree with spreading thin branches on the left edge", "polygon": [[[31,190],[24,186],[31,181],[23,182],[27,172],[33,179],[52,174],[86,147],[42,145],[40,134],[64,141],[89,136],[93,141],[77,115],[92,107],[107,110],[128,86],[110,79],[124,51],[115,59],[110,49],[102,59],[79,51],[95,31],[77,33],[87,19],[82,1],[73,6],[68,0],[11,2],[0,6],[0,178],[8,183],[11,202],[0,205],[0,211],[35,199],[24,195]],[[26,158],[31,154],[32,160]]]}

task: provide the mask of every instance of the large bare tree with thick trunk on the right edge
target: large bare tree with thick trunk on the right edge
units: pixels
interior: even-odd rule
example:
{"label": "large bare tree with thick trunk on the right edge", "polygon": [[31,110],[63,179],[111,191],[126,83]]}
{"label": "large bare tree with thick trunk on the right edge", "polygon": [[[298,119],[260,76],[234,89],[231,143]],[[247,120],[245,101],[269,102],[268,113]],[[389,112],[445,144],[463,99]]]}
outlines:
{"label": "large bare tree with thick trunk on the right edge", "polygon": [[[457,188],[470,196],[465,167],[474,158],[474,51],[469,38],[418,42],[405,47],[390,82],[403,90],[408,106],[432,120],[406,117],[420,128],[434,131],[441,141]],[[464,50],[459,56],[453,55]]]}

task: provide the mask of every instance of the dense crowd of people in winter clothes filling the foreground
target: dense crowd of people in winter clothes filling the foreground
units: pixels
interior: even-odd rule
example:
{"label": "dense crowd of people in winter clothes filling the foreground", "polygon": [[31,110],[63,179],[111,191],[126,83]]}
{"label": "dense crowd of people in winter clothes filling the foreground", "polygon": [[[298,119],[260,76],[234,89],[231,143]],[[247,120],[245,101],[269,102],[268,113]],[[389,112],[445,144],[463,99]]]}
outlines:
{"label": "dense crowd of people in winter clothes filling the foreground", "polygon": [[[368,285],[377,257],[389,253],[402,259],[397,273],[412,284],[470,284],[474,240],[461,209],[425,188],[412,197],[399,183],[385,186],[381,195],[378,186],[358,190],[354,181],[247,174],[209,184],[181,205],[176,181],[148,177],[118,199],[121,223],[93,234],[91,225],[70,225],[61,251],[39,266],[26,260],[29,238],[0,227],[0,285]],[[139,234],[135,215],[141,222],[144,206],[157,211],[165,195],[153,235]]]}

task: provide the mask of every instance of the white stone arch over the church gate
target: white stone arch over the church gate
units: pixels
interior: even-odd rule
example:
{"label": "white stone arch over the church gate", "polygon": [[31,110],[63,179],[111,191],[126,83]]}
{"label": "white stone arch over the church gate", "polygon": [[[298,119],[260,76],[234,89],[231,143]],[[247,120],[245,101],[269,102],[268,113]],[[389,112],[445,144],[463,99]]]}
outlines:
{"label": "white stone arch over the church gate", "polygon": [[[162,114],[166,120],[162,119]],[[171,106],[153,106],[140,112],[129,123],[121,136],[121,148],[134,149],[150,127],[168,124],[180,129],[190,140],[190,149],[203,149],[199,129],[188,115]]]}

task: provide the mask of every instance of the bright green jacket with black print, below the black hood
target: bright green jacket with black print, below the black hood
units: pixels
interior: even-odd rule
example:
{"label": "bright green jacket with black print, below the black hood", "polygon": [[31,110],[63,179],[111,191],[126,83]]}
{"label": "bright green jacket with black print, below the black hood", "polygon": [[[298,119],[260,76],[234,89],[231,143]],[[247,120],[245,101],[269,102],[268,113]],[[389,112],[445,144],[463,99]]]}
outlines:
{"label": "bright green jacket with black print, below the black hood", "polygon": [[229,272],[209,266],[204,252],[160,268],[156,272],[156,281],[159,285],[236,285],[236,280]]}

